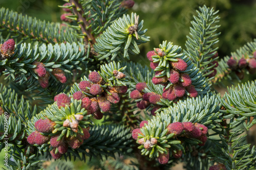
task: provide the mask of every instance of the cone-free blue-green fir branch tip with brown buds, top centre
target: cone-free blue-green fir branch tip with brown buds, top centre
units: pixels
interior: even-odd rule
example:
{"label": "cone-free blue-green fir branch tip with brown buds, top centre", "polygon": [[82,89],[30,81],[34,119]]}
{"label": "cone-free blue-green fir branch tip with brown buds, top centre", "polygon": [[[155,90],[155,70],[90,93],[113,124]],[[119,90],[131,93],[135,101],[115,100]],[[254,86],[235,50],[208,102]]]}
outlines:
{"label": "cone-free blue-green fir branch tip with brown buds, top centre", "polygon": [[99,37],[96,38],[94,45],[95,51],[99,53],[97,58],[103,60],[110,58],[114,60],[117,56],[128,58],[129,54],[139,54],[138,45],[149,41],[150,37],[144,34],[143,20],[139,22],[136,13],[123,15],[109,26]]}

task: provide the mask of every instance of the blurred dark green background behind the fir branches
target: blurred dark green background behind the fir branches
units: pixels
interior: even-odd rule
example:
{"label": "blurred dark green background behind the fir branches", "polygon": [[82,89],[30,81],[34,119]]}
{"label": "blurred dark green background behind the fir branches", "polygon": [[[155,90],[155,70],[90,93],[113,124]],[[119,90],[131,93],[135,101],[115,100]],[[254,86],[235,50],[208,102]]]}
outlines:
{"label": "blurred dark green background behind the fir branches", "polygon": [[[129,13],[139,14],[140,19],[144,20],[144,28],[148,29],[146,35],[151,37],[150,42],[140,45],[141,53],[138,58],[133,59],[134,61],[144,62],[146,53],[158,47],[163,40],[172,41],[185,48],[186,35],[191,26],[190,20],[193,19],[198,7],[203,5],[220,11],[220,57],[230,55],[230,52],[256,38],[256,0],[134,1],[135,5]],[[63,11],[58,5],[64,3],[62,0],[0,0],[0,7],[46,21],[61,22],[60,15]],[[149,63],[147,60],[146,62]],[[247,80],[248,78],[244,79]],[[2,153],[0,157],[2,158]],[[84,168],[86,167],[83,162],[76,161],[75,169]]]}

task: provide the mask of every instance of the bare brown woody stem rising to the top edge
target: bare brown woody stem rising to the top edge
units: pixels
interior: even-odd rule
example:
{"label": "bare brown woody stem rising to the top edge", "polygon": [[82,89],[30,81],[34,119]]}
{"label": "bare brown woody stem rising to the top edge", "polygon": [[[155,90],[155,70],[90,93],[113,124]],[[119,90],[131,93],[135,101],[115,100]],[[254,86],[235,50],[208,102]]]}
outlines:
{"label": "bare brown woody stem rising to the top edge", "polygon": [[91,47],[94,43],[96,43],[95,37],[91,34],[92,29],[86,29],[90,26],[89,22],[86,20],[86,17],[83,17],[84,11],[82,9],[81,4],[79,4],[78,1],[70,0],[70,3],[72,5],[75,5],[75,7],[72,7],[74,14],[78,16],[77,22],[79,22],[79,26],[81,27],[81,31],[84,35],[84,41],[86,42],[86,45],[90,43]]}

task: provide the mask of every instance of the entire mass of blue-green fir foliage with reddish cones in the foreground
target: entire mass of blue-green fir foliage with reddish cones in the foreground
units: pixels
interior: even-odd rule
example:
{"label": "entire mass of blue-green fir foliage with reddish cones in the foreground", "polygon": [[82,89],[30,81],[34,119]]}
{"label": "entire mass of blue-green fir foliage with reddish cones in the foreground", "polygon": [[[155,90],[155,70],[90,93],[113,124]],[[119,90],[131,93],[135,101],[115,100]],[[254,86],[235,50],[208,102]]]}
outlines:
{"label": "entire mass of blue-green fir foliage with reddish cones in the foreground", "polygon": [[132,0],[66,2],[63,27],[0,9],[4,169],[255,169],[256,82],[224,96],[212,84],[254,74],[256,40],[219,60],[220,17],[203,6],[186,50],[162,41],[143,54],[150,69],[129,61],[150,40]]}

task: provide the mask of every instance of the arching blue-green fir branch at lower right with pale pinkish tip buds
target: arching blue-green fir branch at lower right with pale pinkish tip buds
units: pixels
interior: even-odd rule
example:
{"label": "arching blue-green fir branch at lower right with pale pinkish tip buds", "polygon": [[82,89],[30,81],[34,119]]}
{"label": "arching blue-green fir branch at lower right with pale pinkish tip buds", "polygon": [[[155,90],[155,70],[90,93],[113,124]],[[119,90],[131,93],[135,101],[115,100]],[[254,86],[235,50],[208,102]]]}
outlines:
{"label": "arching blue-green fir branch at lower right with pale pinkish tip buds", "polygon": [[[186,138],[182,135],[175,136],[175,133],[168,133],[169,125],[177,122],[190,122],[212,129],[215,128],[214,122],[221,121],[219,116],[222,114],[219,109],[220,101],[216,95],[210,96],[209,94],[205,95],[204,98],[199,96],[196,99],[187,99],[178,102],[177,105],[169,106],[163,109],[161,113],[153,116],[147,124],[144,124],[144,127],[140,128],[137,143],[141,145],[138,149],[141,149],[142,155],[148,155],[150,158],[159,158],[161,154],[168,154],[169,152],[174,155],[177,150],[185,154],[186,147],[192,152],[191,146],[200,144],[201,141],[197,138]],[[151,140],[150,148],[145,145],[148,140]],[[154,143],[152,143],[153,141]]]}

